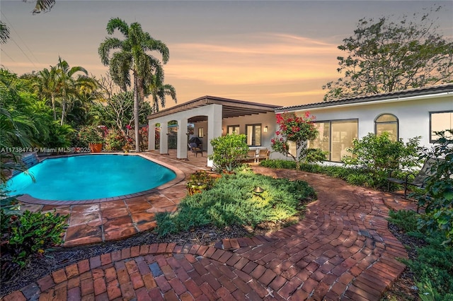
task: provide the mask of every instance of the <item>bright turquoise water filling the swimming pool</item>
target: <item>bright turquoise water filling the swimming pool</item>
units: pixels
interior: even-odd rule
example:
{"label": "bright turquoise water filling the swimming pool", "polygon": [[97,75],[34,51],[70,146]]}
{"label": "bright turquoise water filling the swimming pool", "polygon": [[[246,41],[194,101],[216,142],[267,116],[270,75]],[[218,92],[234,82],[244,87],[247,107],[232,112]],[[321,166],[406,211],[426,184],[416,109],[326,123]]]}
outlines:
{"label": "bright turquoise water filling the swimming pool", "polygon": [[176,177],[168,168],[138,155],[76,155],[43,160],[8,180],[10,195],[81,201],[134,194]]}

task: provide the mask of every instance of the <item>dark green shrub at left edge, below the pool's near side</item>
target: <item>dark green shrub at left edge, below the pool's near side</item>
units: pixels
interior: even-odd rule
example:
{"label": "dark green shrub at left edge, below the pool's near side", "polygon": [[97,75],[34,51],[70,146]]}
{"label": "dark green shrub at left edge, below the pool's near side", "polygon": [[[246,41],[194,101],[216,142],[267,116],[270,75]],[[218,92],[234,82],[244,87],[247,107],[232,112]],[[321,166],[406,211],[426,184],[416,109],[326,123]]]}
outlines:
{"label": "dark green shrub at left edge, below the pool's near side", "polygon": [[68,216],[30,211],[16,216],[6,214],[3,209],[0,216],[2,223],[8,221],[8,226],[2,225],[1,244],[11,254],[12,261],[21,267],[33,254],[43,254],[63,242],[62,233],[67,226],[64,221]]}

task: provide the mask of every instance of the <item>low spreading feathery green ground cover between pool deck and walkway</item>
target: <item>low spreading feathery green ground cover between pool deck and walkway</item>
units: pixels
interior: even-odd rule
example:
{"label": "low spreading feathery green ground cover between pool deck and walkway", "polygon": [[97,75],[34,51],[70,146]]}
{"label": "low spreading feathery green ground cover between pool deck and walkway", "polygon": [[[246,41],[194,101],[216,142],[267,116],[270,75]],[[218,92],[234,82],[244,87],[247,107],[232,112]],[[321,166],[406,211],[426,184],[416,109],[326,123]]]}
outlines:
{"label": "low spreading feathery green ground cover between pool deck and walkway", "polygon": [[[263,193],[254,193],[256,186],[262,187]],[[224,175],[210,190],[186,196],[175,213],[157,214],[156,232],[164,236],[205,225],[256,228],[263,223],[294,223],[292,218],[304,209],[304,203],[315,198],[314,189],[306,182],[242,170]]]}

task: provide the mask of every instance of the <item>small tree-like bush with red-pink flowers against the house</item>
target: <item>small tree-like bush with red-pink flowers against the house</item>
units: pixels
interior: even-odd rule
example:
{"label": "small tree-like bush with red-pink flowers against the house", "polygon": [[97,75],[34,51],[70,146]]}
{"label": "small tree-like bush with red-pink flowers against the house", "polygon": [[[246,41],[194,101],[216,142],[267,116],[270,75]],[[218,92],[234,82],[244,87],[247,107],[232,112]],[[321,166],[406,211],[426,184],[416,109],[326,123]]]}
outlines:
{"label": "small tree-like bush with red-pink flowers against the house", "polygon": [[[321,150],[307,149],[307,142],[318,135],[318,130],[314,126],[316,117],[309,112],[305,112],[303,117],[289,112],[277,114],[276,117],[278,130],[275,131],[276,137],[270,141],[273,151],[285,156],[289,155],[296,162],[297,168],[301,161],[313,162],[326,159],[325,153]],[[299,155],[289,152],[289,141],[295,143]],[[314,152],[316,155],[313,155]]]}

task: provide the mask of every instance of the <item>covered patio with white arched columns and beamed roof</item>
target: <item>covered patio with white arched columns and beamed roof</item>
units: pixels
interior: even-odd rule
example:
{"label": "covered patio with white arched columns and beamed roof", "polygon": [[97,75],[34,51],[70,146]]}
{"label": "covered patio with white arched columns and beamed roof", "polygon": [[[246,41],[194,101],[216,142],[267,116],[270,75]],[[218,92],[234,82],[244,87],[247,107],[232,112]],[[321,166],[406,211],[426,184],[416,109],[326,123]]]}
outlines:
{"label": "covered patio with white arched columns and beamed roof", "polygon": [[[190,138],[202,141],[202,158],[212,167],[207,157],[212,154],[210,141],[226,134],[246,134],[248,145],[265,147],[275,132],[275,109],[268,105],[242,100],[204,96],[181,105],[149,115],[149,151],[168,154],[176,150],[177,159],[188,159]],[[171,142],[173,138],[173,142]]]}

